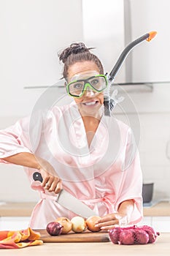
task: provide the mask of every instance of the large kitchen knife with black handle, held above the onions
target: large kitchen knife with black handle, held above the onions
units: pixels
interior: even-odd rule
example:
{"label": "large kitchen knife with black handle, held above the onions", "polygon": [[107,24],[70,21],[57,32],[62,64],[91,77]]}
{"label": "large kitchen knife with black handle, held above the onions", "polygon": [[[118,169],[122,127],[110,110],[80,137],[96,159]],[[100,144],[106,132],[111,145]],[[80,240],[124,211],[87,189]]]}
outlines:
{"label": "large kitchen knife with black handle, held above the onions", "polygon": [[[39,172],[33,173],[33,178],[34,181],[42,182],[42,175]],[[81,217],[88,218],[90,216],[96,216],[96,213],[86,206],[85,203],[82,203],[79,199],[71,195],[69,192],[66,192],[64,189],[61,189],[61,192],[58,193],[55,202]]]}

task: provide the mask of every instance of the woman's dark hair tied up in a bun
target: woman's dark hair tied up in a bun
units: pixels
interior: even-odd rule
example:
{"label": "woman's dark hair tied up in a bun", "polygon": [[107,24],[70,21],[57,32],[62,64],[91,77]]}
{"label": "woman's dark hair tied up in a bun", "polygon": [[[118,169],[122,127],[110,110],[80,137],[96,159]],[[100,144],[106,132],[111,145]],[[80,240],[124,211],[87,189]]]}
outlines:
{"label": "woman's dark hair tied up in a bun", "polygon": [[100,74],[104,74],[104,68],[101,64],[101,61],[98,59],[96,55],[90,53],[90,50],[94,48],[87,48],[83,42],[72,43],[68,48],[64,49],[59,56],[59,60],[63,62],[63,78],[68,77],[68,69],[72,64],[76,62],[83,61],[93,61],[99,71]]}

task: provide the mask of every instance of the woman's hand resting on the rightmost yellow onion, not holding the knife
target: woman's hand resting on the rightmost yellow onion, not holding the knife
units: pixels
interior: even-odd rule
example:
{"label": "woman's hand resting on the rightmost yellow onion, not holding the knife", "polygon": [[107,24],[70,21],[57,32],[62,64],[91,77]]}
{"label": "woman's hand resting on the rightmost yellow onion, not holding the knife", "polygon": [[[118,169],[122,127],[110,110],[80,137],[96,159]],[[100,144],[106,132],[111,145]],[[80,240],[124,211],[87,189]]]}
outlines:
{"label": "woman's hand resting on the rightmost yellow onion, not holding the knife", "polygon": [[115,225],[128,225],[128,216],[120,213],[107,214],[96,222],[96,227],[101,227],[101,230],[110,230]]}

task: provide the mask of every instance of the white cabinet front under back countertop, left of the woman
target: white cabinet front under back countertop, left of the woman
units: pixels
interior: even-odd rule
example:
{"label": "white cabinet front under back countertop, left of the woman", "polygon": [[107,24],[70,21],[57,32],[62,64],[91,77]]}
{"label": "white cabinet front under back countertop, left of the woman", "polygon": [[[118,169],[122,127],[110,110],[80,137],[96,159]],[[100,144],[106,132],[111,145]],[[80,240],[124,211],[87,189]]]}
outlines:
{"label": "white cabinet front under back countertop, left of the woman", "polygon": [[0,217],[0,230],[23,230],[29,226],[30,217]]}

